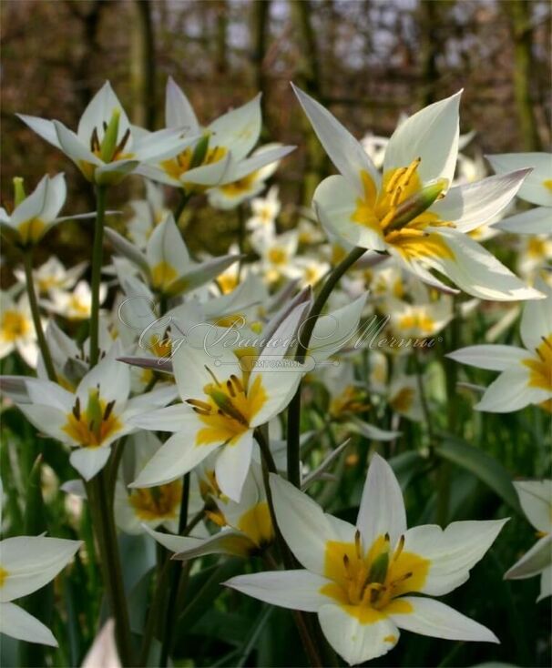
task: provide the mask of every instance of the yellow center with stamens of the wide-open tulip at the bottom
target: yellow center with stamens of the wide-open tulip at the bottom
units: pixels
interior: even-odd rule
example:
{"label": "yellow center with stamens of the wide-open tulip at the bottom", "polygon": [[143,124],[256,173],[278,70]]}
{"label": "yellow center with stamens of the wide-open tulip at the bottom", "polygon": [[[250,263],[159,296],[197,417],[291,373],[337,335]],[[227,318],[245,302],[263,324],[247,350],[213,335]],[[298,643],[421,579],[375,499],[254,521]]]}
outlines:
{"label": "yellow center with stamens of the wide-open tulip at the bottom", "polygon": [[430,562],[404,552],[403,547],[402,536],[392,553],[385,534],[364,552],[360,531],[354,542],[328,541],[324,575],[332,582],[324,584],[321,592],[361,623],[377,622],[388,613],[411,612],[410,603],[400,597],[422,589]]}

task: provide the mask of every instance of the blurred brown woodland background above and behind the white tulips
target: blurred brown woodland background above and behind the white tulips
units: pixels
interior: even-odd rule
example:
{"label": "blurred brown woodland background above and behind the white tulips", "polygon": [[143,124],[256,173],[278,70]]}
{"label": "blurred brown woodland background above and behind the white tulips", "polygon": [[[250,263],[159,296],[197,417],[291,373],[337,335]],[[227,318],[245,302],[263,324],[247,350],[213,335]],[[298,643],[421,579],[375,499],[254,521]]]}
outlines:
{"label": "blurred brown woodland background above and behind the white tulips", "polygon": [[[173,76],[199,120],[263,93],[264,141],[296,144],[275,179],[297,205],[331,170],[291,92],[292,80],[328,106],[357,137],[388,136],[412,113],[464,87],[462,131],[472,155],[539,150],[550,143],[550,5],[544,0],[5,0],[2,18],[1,192],[45,173],[69,175],[67,211],[94,207],[91,188],[15,112],[68,127],[108,78],[132,120],[163,127]],[[110,202],[138,197],[128,179]],[[172,196],[175,193],[171,193]],[[238,221],[196,198],[186,221],[191,248],[219,254]],[[66,263],[87,258],[92,228],[57,228],[41,248]],[[5,249],[3,283],[12,258]],[[42,259],[42,258],[38,258]]]}

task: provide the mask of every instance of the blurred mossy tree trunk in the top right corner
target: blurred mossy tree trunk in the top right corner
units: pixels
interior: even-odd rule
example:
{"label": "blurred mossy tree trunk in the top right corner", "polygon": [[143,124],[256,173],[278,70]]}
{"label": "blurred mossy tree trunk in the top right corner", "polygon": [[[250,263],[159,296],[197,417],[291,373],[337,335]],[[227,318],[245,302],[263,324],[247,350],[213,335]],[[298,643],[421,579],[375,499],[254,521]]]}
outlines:
{"label": "blurred mossy tree trunk in the top right corner", "polygon": [[514,40],[514,96],[519,118],[519,135],[526,151],[537,151],[542,147],[529,83],[534,71],[531,50],[531,3],[526,0],[508,0],[504,3],[504,8]]}

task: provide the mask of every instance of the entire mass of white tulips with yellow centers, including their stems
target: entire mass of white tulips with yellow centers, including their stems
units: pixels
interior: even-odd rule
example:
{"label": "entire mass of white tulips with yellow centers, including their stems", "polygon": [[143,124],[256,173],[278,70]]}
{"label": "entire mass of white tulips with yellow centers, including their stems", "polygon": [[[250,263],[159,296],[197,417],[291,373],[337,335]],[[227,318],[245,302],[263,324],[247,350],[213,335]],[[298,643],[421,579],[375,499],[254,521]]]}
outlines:
{"label": "entire mass of white tulips with yellow centers, including their stems", "polygon": [[[432,393],[446,384],[443,364],[499,372],[487,388],[464,384],[476,411],[552,412],[552,157],[486,163],[459,153],[474,138],[459,135],[460,93],[403,118],[389,139],[360,142],[294,91],[337,174],[286,228],[291,205],[267,181],[294,147],[257,146],[260,96],[202,125],[169,79],[166,127],[156,132],[130,124],[108,83],[77,131],[20,116],[75,163],[97,210],[70,214],[63,173],[34,189],[16,178],[13,207],[0,208],[5,243],[21,253],[2,293],[0,357],[12,360],[4,406],[65,446],[74,475],[58,493],[92,518],[123,665],[151,662],[154,636],[167,665],[183,573],[207,555],[242,560],[242,574],[222,583],[240,593],[221,589],[226,596],[296,611],[312,665],[328,652],[372,660],[393,650],[400,629],[500,641],[500,628],[435,597],[468,580],[506,512],[407,529],[394,468],[375,450],[393,453],[405,427],[415,428],[426,439],[419,455],[434,461]],[[131,174],[145,196],[122,226],[107,207]],[[220,216],[240,212],[240,240],[224,256],[192,253],[184,241],[183,213],[198,197]],[[52,256],[36,267],[48,231],[76,218],[95,225],[89,262],[66,268]],[[485,248],[496,238],[516,250],[516,273]],[[455,323],[487,308],[486,342],[444,343]],[[521,345],[496,343],[518,330]],[[350,523],[324,506],[354,467],[364,467],[365,483]],[[513,484],[539,538],[506,578],[540,574],[540,600],[552,594],[552,481]],[[16,536],[9,518],[3,528],[0,632],[56,645],[12,601],[70,569],[81,542]],[[141,630],[129,622],[118,531],[142,534],[166,560]],[[156,615],[167,622],[156,625]]]}

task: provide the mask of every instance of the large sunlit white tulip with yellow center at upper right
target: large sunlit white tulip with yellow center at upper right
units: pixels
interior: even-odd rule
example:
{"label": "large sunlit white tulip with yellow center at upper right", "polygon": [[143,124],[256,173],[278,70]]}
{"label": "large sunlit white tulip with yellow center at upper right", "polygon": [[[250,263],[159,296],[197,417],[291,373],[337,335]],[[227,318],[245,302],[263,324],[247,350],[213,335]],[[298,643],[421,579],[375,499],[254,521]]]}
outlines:
{"label": "large sunlit white tulip with yellow center at upper right", "polygon": [[313,197],[322,225],[354,246],[392,255],[425,282],[450,291],[445,274],[481,299],[540,299],[466,232],[506,207],[529,169],[449,188],[458,153],[460,93],[410,116],[386,147],[383,177],[362,145],[323,106],[294,88],[340,171]]}

